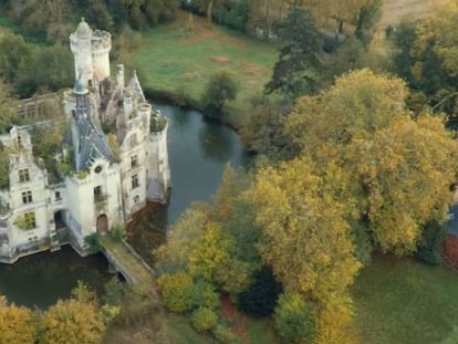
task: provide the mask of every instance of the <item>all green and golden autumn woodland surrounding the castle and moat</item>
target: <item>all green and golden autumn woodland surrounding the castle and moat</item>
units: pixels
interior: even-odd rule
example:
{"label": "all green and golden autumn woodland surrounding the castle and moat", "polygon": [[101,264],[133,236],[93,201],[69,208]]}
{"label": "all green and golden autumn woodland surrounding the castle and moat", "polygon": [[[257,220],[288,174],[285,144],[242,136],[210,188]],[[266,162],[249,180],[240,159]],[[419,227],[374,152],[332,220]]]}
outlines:
{"label": "all green and golden autumn woodland surrounding the castle and moat", "polygon": [[[250,316],[273,316],[285,343],[357,343],[348,288],[374,251],[441,263],[458,170],[457,1],[436,17],[387,28],[383,55],[369,50],[378,0],[0,3],[25,37],[0,33],[3,131],[14,121],[8,108],[15,96],[71,83],[72,59],[62,44],[81,15],[117,32],[118,52],[136,30],[173,20],[178,6],[247,34],[262,32],[278,45],[271,80],[239,128],[258,154],[256,166],[228,167],[211,201],[188,209],[154,252],[165,306],[197,331],[238,343],[218,315],[225,294]],[[201,108],[225,116],[235,88],[228,75],[217,75]],[[119,293],[126,291],[106,302],[115,325],[126,319]],[[0,299],[0,333],[21,333],[20,343],[56,343],[52,316],[82,306],[94,320],[84,330],[87,343],[98,343],[106,310],[81,300],[37,315]],[[15,327],[4,321],[11,316]],[[79,322],[71,325],[64,331]]]}

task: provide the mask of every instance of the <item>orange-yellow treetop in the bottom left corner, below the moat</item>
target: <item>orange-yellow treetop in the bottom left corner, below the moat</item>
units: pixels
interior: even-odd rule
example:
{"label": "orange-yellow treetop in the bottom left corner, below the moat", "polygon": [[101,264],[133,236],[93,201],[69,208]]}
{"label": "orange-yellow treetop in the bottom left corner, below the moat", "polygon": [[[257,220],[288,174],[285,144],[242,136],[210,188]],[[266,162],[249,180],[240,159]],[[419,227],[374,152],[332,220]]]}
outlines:
{"label": "orange-yellow treetop in the bottom left corner, below the moat", "polygon": [[0,295],[0,344],[33,344],[37,340],[34,314],[27,307],[8,304]]}

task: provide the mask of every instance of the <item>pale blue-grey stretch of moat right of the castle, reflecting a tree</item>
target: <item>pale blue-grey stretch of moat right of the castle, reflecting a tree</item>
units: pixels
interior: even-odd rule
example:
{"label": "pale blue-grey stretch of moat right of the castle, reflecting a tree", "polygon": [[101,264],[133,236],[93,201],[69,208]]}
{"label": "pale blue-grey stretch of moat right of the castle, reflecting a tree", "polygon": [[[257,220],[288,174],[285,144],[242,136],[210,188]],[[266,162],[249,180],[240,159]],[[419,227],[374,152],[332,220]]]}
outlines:
{"label": "pale blue-grey stretch of moat right of the castle, reflecting a tree", "polygon": [[170,121],[171,199],[167,220],[173,223],[192,201],[209,199],[219,186],[228,161],[238,167],[244,166],[249,158],[239,137],[229,127],[205,121],[196,111],[177,111],[165,104],[155,104],[155,107]]}

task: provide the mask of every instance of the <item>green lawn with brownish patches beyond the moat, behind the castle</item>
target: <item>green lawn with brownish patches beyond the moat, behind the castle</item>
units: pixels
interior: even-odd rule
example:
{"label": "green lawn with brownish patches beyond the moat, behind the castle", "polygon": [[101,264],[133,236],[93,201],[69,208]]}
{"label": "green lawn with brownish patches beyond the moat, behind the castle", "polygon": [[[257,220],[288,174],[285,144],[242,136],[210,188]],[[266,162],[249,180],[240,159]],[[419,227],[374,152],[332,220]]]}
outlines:
{"label": "green lawn with brownish patches beyond the moat, behind the castle", "polygon": [[222,70],[233,74],[239,85],[237,100],[229,107],[229,121],[243,122],[250,98],[269,81],[278,50],[264,42],[212,25],[179,12],[177,20],[143,33],[139,46],[123,53],[119,61],[139,69],[144,87],[177,92],[198,101],[208,77]]}

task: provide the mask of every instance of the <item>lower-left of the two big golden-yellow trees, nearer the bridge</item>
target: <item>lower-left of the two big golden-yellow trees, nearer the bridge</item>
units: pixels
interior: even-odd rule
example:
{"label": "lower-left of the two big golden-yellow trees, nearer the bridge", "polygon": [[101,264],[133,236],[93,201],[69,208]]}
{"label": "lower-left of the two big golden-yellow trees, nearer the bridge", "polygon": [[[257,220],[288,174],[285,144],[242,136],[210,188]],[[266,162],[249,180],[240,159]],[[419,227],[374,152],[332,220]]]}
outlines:
{"label": "lower-left of the two big golden-yellow trees, nearer the bridge", "polygon": [[258,250],[284,291],[324,302],[345,293],[361,265],[345,221],[347,176],[333,164],[322,168],[308,157],[261,168],[246,197],[261,231]]}

